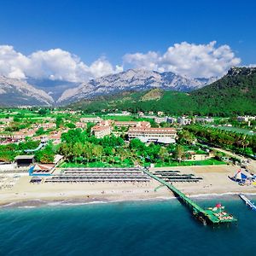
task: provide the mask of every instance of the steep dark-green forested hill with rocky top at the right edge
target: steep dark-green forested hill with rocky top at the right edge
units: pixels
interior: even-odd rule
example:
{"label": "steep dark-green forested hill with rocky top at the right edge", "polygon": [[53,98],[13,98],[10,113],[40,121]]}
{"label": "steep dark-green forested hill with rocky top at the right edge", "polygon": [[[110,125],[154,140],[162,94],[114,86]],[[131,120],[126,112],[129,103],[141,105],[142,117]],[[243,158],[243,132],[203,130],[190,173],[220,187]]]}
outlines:
{"label": "steep dark-green forested hill with rocky top at the right edge", "polygon": [[200,113],[256,113],[256,68],[233,67],[218,81],[191,93]]}

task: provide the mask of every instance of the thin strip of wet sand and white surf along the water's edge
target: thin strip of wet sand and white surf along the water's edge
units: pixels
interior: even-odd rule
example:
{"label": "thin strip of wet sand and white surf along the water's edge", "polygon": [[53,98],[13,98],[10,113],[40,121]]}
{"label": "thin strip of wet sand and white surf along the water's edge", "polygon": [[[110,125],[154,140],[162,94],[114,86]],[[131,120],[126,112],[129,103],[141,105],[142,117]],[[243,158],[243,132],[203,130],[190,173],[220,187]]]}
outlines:
{"label": "thin strip of wet sand and white surf along the water's edge", "polygon": [[[214,198],[220,197],[233,197],[235,195],[251,195],[256,196],[255,192],[225,192],[225,193],[212,193],[212,194],[195,194],[190,195],[191,199],[206,199],[211,200]],[[102,205],[102,204],[113,204],[113,203],[129,203],[129,202],[156,202],[156,201],[173,201],[177,199],[175,195],[170,196],[159,196],[159,197],[148,197],[148,198],[133,198],[133,199],[115,199],[109,200],[108,198],[66,198],[66,199],[32,199],[24,201],[6,201],[0,204],[0,211],[3,209],[11,208],[36,208],[36,207],[75,207],[75,206],[84,206],[84,205]],[[237,197],[237,199],[239,199]]]}

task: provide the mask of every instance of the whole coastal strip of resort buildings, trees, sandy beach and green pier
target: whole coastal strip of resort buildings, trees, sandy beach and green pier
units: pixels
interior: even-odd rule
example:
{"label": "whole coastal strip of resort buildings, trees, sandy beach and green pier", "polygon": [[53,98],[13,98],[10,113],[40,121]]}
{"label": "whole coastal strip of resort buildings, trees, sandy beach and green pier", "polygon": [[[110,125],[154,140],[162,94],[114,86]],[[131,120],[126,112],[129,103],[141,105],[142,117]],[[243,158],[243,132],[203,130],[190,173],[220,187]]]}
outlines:
{"label": "whole coastal strip of resort buildings, trees, sandy beach and green pier", "polygon": [[[231,224],[236,218],[223,206],[201,207],[190,196],[255,191],[255,129],[236,127],[246,124],[241,117],[47,111],[47,117],[29,108],[0,113],[2,205],[35,197],[132,201],[176,196],[203,224]],[[253,122],[250,118],[249,125]]]}

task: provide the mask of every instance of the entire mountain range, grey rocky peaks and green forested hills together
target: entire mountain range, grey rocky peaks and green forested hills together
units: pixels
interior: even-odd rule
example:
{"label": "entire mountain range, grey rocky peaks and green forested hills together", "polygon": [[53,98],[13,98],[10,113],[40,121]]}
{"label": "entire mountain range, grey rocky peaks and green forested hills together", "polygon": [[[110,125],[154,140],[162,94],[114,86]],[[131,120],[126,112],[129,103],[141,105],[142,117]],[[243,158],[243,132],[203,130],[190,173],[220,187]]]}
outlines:
{"label": "entire mountain range, grey rocky peaks and green forested hills together", "polygon": [[256,67],[230,68],[218,80],[139,69],[80,84],[0,77],[0,106],[21,105],[69,105],[86,112],[118,108],[133,112],[256,114]]}

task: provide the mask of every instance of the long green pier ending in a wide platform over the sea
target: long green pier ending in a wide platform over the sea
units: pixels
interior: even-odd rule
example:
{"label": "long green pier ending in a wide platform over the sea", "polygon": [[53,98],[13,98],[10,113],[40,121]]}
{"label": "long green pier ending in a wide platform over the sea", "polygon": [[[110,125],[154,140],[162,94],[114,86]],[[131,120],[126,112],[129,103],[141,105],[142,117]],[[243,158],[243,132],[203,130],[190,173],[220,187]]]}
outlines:
{"label": "long green pier ending in a wide platform over the sea", "polygon": [[195,201],[192,201],[187,195],[184,195],[180,190],[175,188],[171,183],[167,183],[165,180],[157,177],[154,175],[154,173],[149,172],[146,169],[144,169],[143,172],[170,189],[172,193],[177,197],[177,199],[189,207],[195,218],[199,219],[203,224],[231,224],[237,222],[236,218],[234,218],[228,212],[224,212],[222,210],[223,207],[212,207],[204,209],[197,205]]}

